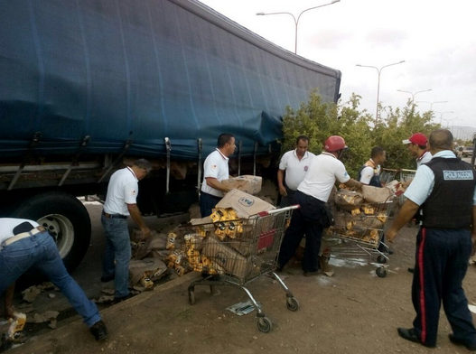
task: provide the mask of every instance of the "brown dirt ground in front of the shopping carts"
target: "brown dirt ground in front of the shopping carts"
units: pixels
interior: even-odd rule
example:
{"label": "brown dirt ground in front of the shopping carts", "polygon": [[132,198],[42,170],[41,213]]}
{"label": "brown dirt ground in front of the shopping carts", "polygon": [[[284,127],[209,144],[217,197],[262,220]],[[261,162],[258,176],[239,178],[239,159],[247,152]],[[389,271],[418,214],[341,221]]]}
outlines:
{"label": "brown dirt ground in front of the shopping carts", "polygon": [[[411,327],[414,310],[410,300],[416,228],[404,228],[390,256],[387,276],[375,267],[345,259],[331,259],[332,277],[304,277],[300,265],[281,274],[299,301],[291,312],[285,292],[271,278],[261,276],[247,288],[273,323],[269,333],[257,330],[256,312],[238,316],[227,310],[247,300],[232,286],[195,288],[196,303],[188,303],[187,287],[198,274],[184,275],[156,286],[154,291],[103,309],[109,336],[95,342],[78,316],[56,330],[43,331],[8,353],[465,353],[448,340],[451,332],[443,311],[438,346],[426,349],[402,340],[397,327]],[[351,247],[354,244],[350,245]],[[464,288],[476,303],[476,266],[471,265]]]}

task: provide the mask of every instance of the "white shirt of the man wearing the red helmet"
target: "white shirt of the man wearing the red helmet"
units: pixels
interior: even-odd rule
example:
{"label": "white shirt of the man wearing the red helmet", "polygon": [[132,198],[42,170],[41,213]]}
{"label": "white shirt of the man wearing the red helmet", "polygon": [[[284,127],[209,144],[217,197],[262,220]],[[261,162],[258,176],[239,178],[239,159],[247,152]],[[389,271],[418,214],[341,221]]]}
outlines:
{"label": "white shirt of the man wearing the red helmet", "polygon": [[344,164],[334,155],[322,153],[313,158],[313,163],[297,190],[327,202],[336,180],[341,183],[348,182],[350,175]]}

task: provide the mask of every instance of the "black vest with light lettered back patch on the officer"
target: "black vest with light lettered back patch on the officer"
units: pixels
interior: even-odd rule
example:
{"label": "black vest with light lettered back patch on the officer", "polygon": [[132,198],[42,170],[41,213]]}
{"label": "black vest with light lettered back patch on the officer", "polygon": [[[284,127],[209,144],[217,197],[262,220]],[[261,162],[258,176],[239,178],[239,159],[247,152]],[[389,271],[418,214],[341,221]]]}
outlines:
{"label": "black vest with light lettered back patch on the officer", "polygon": [[425,228],[468,228],[476,176],[470,163],[434,157],[425,163],[434,172],[434,188],[422,204]]}

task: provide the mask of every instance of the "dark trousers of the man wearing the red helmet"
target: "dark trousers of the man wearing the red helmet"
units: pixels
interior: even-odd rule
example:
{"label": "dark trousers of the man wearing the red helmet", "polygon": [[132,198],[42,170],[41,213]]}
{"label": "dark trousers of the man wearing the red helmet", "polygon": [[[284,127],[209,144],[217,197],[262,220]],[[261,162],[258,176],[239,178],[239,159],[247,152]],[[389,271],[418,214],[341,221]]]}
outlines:
{"label": "dark trousers of the man wearing the red helmet", "polygon": [[319,267],[319,251],[321,249],[323,220],[327,214],[324,209],[325,203],[322,200],[296,191],[294,203],[301,206],[294,210],[289,228],[286,229],[285,238],[279,250],[277,263],[285,266],[294,256],[294,252],[301,243],[303,236],[306,236],[306,247],[304,248],[303,271],[316,272]]}

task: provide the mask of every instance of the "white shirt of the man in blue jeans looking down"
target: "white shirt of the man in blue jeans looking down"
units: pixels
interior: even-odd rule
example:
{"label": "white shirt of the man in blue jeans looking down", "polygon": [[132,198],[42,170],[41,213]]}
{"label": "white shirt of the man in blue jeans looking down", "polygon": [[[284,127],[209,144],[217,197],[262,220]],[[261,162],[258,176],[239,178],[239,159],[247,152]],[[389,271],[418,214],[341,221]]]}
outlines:
{"label": "white shirt of the man in blue jeans looking down", "polygon": [[107,186],[104,211],[107,214],[129,215],[126,204],[135,204],[139,192],[139,180],[130,167],[117,170]]}

